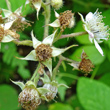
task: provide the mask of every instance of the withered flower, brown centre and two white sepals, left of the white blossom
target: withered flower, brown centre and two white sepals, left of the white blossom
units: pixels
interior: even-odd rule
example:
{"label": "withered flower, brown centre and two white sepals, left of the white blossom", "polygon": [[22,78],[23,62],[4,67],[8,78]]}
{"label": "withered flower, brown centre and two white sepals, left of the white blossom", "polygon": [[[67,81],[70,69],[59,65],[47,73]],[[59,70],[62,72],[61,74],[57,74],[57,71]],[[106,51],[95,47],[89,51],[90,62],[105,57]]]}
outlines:
{"label": "withered flower, brown centre and two white sepals, left of the white blossom", "polygon": [[55,17],[57,18],[53,23],[48,24],[51,27],[60,27],[62,31],[66,27],[72,28],[75,25],[74,13],[70,10],[64,11],[60,15],[55,11]]}

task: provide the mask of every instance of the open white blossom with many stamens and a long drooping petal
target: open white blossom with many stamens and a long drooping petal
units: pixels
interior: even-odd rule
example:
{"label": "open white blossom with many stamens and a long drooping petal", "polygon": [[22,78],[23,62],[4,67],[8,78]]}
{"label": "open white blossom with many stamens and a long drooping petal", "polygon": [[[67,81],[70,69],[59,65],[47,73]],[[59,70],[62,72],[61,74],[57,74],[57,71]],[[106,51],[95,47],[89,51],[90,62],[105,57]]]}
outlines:
{"label": "open white blossom with many stamens and a long drooping petal", "polygon": [[105,24],[102,22],[103,16],[100,15],[98,10],[96,10],[94,14],[92,12],[89,12],[85,17],[85,20],[82,14],[79,13],[79,15],[81,16],[81,19],[84,23],[83,25],[85,30],[89,34],[89,40],[91,41],[91,43],[94,42],[96,48],[103,56],[103,50],[98,43],[103,42],[103,39],[107,40],[109,36],[108,26],[105,26]]}

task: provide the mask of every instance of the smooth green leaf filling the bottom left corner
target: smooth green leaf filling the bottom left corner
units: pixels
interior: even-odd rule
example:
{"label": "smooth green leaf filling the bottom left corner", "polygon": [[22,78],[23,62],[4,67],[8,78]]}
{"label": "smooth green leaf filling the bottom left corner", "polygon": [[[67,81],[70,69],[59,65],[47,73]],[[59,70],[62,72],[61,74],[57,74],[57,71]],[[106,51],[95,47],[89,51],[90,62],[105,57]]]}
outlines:
{"label": "smooth green leaf filling the bottom left corner", "polygon": [[9,85],[0,86],[0,110],[20,110],[17,91]]}

